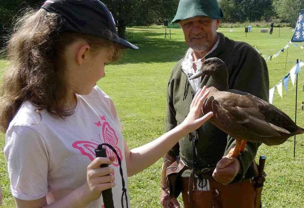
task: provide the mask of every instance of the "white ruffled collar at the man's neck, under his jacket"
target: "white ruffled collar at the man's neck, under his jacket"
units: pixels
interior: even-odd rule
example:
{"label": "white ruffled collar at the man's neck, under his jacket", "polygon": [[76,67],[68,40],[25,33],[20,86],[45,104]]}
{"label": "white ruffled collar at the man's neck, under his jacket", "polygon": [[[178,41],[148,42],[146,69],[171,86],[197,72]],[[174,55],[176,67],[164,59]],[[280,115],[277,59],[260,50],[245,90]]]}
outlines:
{"label": "white ruffled collar at the man's neck, under his jacket", "polygon": [[[206,55],[204,57],[202,57],[196,61],[193,61],[193,56],[192,56],[193,49],[189,48],[187,50],[185,58],[184,58],[183,62],[181,63],[181,68],[188,77],[190,77],[192,74],[195,73],[195,70],[193,68],[193,63],[196,64],[197,71],[201,70],[202,60],[204,60],[207,55],[212,53],[217,48],[217,46],[219,46],[219,39],[220,39],[220,36],[219,36],[219,34],[217,34],[217,41],[216,41],[215,45],[212,47],[212,49],[210,51],[208,51],[208,53],[206,53]],[[192,88],[195,90],[195,92],[197,92],[197,90],[199,90],[200,82],[201,82],[201,77],[190,80],[190,84],[191,84]]]}

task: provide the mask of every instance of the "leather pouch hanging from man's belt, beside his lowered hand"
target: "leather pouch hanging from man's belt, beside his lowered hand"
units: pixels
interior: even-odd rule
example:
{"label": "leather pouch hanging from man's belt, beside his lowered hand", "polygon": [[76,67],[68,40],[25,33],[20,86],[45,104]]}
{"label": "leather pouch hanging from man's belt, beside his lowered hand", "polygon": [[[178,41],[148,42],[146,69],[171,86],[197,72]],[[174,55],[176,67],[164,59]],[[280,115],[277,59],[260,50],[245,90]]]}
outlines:
{"label": "leather pouch hanging from man's belt, beside his lowered hand", "polygon": [[182,160],[176,160],[166,170],[166,181],[169,184],[170,198],[177,198],[181,193],[182,182],[181,173],[188,169]]}

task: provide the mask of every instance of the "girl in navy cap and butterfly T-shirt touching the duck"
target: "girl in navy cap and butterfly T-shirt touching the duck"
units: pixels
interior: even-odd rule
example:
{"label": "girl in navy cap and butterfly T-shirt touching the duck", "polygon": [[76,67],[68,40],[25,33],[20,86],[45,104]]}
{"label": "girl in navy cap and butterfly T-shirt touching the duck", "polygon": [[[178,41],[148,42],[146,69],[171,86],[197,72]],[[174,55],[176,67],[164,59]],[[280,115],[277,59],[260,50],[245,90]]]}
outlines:
{"label": "girl in navy cap and butterfly T-shirt touching the duck", "polygon": [[[204,87],[184,122],[130,150],[111,98],[96,86],[105,65],[126,47],[137,49],[117,36],[111,13],[98,0],[48,0],[19,20],[8,42],[12,67],[0,99],[17,208],[101,208],[101,192],[109,188],[115,207],[130,207],[126,176],[152,165],[212,116],[199,118]],[[101,143],[119,158],[110,148],[108,158],[96,158]]]}

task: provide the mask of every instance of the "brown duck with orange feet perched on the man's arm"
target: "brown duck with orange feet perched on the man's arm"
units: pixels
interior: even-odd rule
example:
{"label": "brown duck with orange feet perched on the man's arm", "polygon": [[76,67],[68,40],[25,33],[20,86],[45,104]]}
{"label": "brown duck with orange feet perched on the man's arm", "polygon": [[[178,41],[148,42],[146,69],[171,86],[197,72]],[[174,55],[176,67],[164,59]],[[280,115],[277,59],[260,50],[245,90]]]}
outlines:
{"label": "brown duck with orange feet perched on the man's arm", "polygon": [[209,58],[202,65],[189,79],[203,75],[213,77],[207,86],[210,93],[202,113],[213,111],[209,121],[235,138],[237,144],[230,152],[232,157],[244,152],[247,141],[279,145],[293,135],[304,133],[288,115],[267,101],[239,90],[228,90],[228,70],[222,60]]}

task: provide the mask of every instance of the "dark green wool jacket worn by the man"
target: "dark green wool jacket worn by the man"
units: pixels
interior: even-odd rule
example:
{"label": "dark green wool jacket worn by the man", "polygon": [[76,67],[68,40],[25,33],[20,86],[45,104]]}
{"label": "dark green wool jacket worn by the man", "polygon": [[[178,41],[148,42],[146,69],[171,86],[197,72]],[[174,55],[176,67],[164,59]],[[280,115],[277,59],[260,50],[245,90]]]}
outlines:
{"label": "dark green wool jacket worn by the man", "polygon": [[[219,33],[219,45],[207,58],[218,57],[228,68],[229,89],[248,92],[263,100],[269,99],[269,77],[265,60],[249,44],[230,40]],[[184,58],[183,58],[184,59]],[[165,116],[165,129],[172,128],[184,121],[189,113],[190,104],[194,97],[194,90],[189,84],[186,74],[181,69],[183,59],[174,66],[167,90],[167,107]],[[207,85],[212,77],[202,78],[201,86]],[[219,128],[206,122],[199,129],[197,142],[198,168],[215,167],[216,163],[227,155],[235,146],[235,140]],[[192,138],[197,137],[192,132],[181,140],[168,152],[176,157],[178,155],[192,167]],[[233,182],[253,176],[252,162],[261,143],[247,142],[245,152],[238,157],[241,170]],[[185,171],[182,177],[189,177],[190,171]]]}

